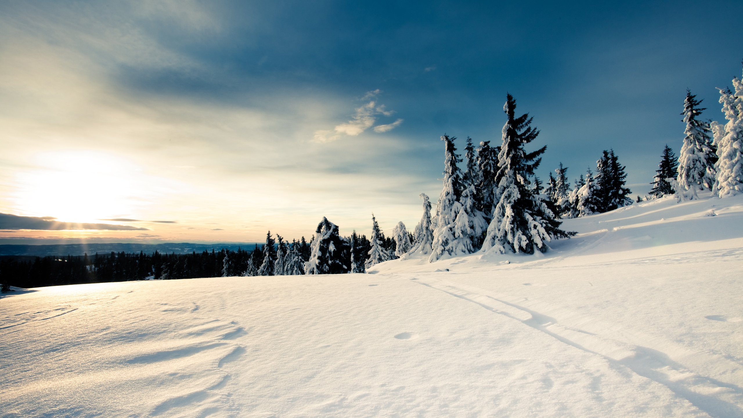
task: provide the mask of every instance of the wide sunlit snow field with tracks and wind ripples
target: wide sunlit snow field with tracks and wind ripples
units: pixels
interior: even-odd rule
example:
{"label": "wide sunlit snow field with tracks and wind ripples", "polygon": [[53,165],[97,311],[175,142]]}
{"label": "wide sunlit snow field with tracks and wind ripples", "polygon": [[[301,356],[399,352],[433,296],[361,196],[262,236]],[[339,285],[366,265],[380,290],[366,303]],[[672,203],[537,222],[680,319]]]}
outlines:
{"label": "wide sunlit snow field with tracks and wind ripples", "polygon": [[743,196],[563,226],[539,256],[15,292],[0,416],[743,417]]}

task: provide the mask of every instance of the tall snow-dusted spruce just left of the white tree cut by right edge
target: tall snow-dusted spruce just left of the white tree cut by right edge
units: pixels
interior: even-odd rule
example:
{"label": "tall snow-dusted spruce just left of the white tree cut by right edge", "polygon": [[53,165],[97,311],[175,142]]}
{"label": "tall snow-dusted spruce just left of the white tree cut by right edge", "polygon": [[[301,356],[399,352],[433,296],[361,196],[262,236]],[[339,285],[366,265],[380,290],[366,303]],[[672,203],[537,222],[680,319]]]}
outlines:
{"label": "tall snow-dusted spruce just left of the white tree cut by right edge", "polygon": [[704,120],[698,120],[706,108],[700,108],[702,100],[687,89],[684,99],[683,122],[687,123],[684,129],[684,144],[678,154],[678,186],[686,199],[696,199],[697,191],[712,190],[715,184],[714,162],[717,155],[710,147],[710,127]]}

